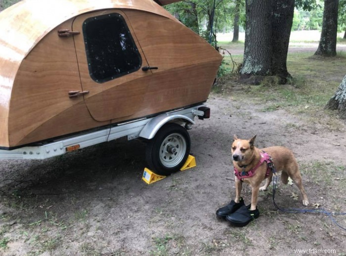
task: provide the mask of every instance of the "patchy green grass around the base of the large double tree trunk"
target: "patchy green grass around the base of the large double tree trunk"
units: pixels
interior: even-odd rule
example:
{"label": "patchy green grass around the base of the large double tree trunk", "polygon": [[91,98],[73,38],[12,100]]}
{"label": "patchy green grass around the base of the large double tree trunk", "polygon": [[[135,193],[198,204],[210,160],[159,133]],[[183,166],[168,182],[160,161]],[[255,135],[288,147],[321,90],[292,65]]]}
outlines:
{"label": "patchy green grass around the base of the large double tree trunk", "polygon": [[[233,56],[241,63],[242,56]],[[225,57],[230,63],[230,57]],[[232,64],[231,64],[232,65]],[[260,111],[284,109],[309,125],[321,126],[332,131],[342,129],[335,111],[324,110],[345,76],[346,52],[335,58],[314,57],[311,53],[288,54],[287,68],[292,75],[288,84],[277,84],[275,77],[265,78],[260,85],[238,82],[237,74],[227,74],[219,79],[212,92],[237,101],[261,105]]]}

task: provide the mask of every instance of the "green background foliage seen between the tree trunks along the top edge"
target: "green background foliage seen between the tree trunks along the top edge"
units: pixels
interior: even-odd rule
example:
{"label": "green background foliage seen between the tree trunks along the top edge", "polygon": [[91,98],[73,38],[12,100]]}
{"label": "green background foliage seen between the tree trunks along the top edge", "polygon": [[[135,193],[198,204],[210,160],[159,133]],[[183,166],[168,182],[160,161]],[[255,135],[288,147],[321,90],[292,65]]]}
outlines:
{"label": "green background foliage seen between the tree trunks along the top edge", "polygon": [[[224,33],[233,30],[234,8],[237,0],[216,0],[219,4],[215,11],[215,32]],[[240,7],[240,31],[245,28],[245,0]],[[175,15],[183,24],[204,36],[208,34],[208,11],[211,11],[214,0],[183,0],[169,4],[166,9]],[[196,5],[196,11],[191,9],[191,3]],[[296,8],[292,31],[321,30],[323,19],[323,0],[296,0]],[[346,30],[346,0],[339,0],[339,32]]]}

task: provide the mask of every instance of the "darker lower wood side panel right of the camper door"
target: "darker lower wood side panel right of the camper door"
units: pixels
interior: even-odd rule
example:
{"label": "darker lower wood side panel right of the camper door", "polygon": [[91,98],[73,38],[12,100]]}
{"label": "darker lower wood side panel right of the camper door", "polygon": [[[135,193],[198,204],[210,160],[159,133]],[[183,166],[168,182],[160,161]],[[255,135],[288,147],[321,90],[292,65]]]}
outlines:
{"label": "darker lower wood side panel right of the camper door", "polygon": [[[206,101],[218,65],[219,62],[214,61],[155,73],[150,80],[142,106],[134,115],[128,116],[128,119]],[[191,77],[194,78],[193,82]],[[113,119],[112,123],[120,121],[122,119]]]}

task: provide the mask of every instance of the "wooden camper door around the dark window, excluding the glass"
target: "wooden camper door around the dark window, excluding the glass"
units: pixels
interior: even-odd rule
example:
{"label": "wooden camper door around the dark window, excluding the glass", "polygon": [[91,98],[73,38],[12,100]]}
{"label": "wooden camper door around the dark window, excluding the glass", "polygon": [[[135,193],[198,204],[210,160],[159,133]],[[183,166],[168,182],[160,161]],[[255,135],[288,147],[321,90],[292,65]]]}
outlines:
{"label": "wooden camper door around the dark window, excluding the glass", "polygon": [[[83,31],[82,26],[86,19],[110,13],[118,13],[123,16],[134,43],[137,45],[142,59],[142,67],[148,66],[145,56],[139,47],[137,38],[130,27],[130,22],[124,12],[119,9],[97,11],[78,16],[73,23],[74,31]],[[142,17],[145,19],[146,17]],[[143,96],[147,89],[147,84],[140,79],[151,76],[151,72],[144,72],[141,69],[134,73],[122,75],[104,83],[95,82],[89,75],[84,35],[75,36],[75,45],[78,58],[78,65],[81,74],[83,90],[90,93],[85,95],[87,108],[92,117],[97,121],[106,121],[114,118],[129,116],[138,110],[143,101]]]}

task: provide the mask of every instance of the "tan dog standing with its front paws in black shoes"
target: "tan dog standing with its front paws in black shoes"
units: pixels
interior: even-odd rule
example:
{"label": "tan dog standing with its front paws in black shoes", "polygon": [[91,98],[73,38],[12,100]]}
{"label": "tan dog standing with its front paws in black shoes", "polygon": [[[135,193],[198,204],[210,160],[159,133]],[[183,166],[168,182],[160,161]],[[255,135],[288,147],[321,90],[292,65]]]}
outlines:
{"label": "tan dog standing with its front paws in black shoes", "polygon": [[[293,182],[298,186],[301,191],[303,197],[303,205],[307,206],[309,201],[307,199],[305,190],[302,184],[302,176],[299,172],[299,167],[296,158],[294,157],[292,151],[283,146],[271,146],[259,149],[254,146],[254,142],[256,139],[256,135],[250,140],[240,140],[236,135],[234,135],[234,142],[232,144],[232,158],[233,165],[238,172],[243,172],[243,174],[248,174],[249,171],[256,168],[259,165],[261,154],[263,155],[263,151],[266,152],[269,156],[271,156],[274,166],[277,172],[282,171],[281,173],[281,181],[284,184],[287,184],[288,177],[291,177]],[[246,176],[242,176],[239,179],[237,176],[235,177],[235,187],[236,187],[236,195],[235,195],[235,203],[239,203],[240,201],[240,192],[242,190],[242,182],[250,184],[252,187],[252,196],[251,196],[251,209],[255,210],[257,206],[257,200],[259,195],[259,190],[266,190],[268,185],[272,179],[272,172],[267,174],[267,164],[263,162],[254,172],[252,177],[246,178]],[[240,176],[240,175],[239,175]],[[267,178],[265,185],[262,187],[260,183]]]}

